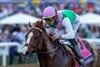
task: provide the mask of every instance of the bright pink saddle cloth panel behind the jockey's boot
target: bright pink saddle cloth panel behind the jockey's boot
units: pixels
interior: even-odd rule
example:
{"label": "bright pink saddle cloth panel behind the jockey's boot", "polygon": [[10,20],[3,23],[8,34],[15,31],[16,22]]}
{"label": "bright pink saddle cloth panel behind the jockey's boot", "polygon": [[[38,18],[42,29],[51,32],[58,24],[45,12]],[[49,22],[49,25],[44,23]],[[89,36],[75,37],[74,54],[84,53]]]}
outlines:
{"label": "bright pink saddle cloth panel behind the jockey's boot", "polygon": [[77,41],[80,43],[79,47],[81,49],[85,64],[88,64],[88,63],[92,62],[94,60],[92,53],[84,45],[82,39],[77,38]]}

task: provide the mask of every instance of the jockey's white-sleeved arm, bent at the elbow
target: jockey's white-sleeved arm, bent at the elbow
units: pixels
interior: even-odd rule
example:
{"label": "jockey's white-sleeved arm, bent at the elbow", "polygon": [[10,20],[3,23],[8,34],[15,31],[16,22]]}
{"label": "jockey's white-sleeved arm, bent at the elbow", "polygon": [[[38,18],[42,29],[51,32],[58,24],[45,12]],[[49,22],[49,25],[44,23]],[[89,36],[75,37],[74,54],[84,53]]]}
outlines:
{"label": "jockey's white-sleeved arm, bent at the elbow", "polygon": [[62,26],[65,27],[65,34],[61,35],[61,38],[64,39],[73,39],[75,38],[75,33],[73,27],[71,25],[71,21],[69,18],[65,18],[62,22]]}

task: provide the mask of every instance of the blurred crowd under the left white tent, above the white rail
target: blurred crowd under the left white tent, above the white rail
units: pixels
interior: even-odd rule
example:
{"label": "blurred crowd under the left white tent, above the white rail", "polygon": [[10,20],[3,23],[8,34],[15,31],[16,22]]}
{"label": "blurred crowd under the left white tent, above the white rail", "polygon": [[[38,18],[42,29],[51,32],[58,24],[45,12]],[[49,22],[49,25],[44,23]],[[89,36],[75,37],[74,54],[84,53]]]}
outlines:
{"label": "blurred crowd under the left white tent, above the white rail", "polygon": [[24,25],[3,25],[0,30],[0,42],[10,42],[18,39],[18,42],[24,43],[25,41],[25,33],[27,31],[27,27]]}

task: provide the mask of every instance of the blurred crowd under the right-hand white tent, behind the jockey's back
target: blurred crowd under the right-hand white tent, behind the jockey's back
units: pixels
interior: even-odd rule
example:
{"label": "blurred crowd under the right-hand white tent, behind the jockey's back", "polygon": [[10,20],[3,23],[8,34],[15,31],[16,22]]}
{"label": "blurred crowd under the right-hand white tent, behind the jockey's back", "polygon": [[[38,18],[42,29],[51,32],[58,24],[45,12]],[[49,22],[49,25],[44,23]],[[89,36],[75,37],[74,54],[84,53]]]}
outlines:
{"label": "blurred crowd under the right-hand white tent, behind the jockey's back", "polygon": [[80,25],[77,36],[81,38],[100,38],[100,27],[94,25]]}

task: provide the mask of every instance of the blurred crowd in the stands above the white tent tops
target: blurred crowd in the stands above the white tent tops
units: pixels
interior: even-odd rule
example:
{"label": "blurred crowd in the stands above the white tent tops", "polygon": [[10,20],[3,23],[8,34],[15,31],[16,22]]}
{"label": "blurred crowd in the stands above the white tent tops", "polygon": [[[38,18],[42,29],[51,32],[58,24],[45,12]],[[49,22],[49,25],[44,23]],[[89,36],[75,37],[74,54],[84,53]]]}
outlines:
{"label": "blurred crowd in the stands above the white tent tops", "polygon": [[[38,2],[39,0],[29,1],[29,2],[19,2],[19,3],[0,3],[0,18],[13,15],[18,12],[29,14],[32,16],[40,17],[42,16],[43,9],[48,5],[54,6],[57,10],[70,9],[74,10],[77,14],[82,15],[87,12],[94,12],[100,14],[100,6],[91,0],[84,2],[84,0],[70,0],[67,2]],[[81,2],[83,1],[83,2]]]}

